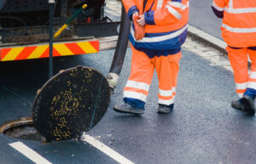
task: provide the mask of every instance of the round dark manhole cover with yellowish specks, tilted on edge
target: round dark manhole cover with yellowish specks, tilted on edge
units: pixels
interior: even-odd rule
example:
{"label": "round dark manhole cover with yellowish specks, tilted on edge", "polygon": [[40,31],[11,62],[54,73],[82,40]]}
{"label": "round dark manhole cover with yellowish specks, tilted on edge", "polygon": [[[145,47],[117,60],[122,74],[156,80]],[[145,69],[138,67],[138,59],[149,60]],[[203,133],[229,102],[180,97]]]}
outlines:
{"label": "round dark manhole cover with yellowish specks, tilted on edge", "polygon": [[75,67],[46,82],[32,105],[34,126],[47,140],[77,138],[108,110],[108,81],[99,71]]}

